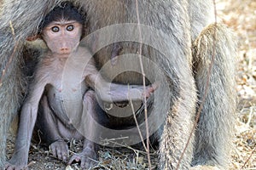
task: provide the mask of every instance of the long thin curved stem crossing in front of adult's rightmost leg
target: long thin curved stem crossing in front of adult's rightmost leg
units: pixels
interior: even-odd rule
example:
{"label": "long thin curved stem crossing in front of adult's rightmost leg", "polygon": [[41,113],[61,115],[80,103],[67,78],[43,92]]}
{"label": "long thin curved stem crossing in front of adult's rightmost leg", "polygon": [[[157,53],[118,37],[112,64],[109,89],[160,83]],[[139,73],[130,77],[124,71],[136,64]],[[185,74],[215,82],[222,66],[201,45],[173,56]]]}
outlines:
{"label": "long thin curved stem crossing in front of adult's rightmost leg", "polygon": [[183,152],[182,152],[182,155],[180,156],[178,162],[177,162],[177,167],[176,167],[176,170],[178,169],[178,167],[180,166],[180,163],[183,159],[183,156],[185,154],[185,151],[187,150],[188,146],[189,146],[189,142],[192,138],[192,135],[193,135],[193,132],[195,131],[195,127],[197,126],[197,122],[199,121],[199,118],[201,116],[201,111],[203,109],[203,106],[206,102],[206,99],[207,99],[207,93],[208,93],[208,90],[209,90],[209,83],[210,83],[210,77],[211,77],[211,73],[212,73],[212,65],[213,65],[213,62],[214,62],[214,59],[215,59],[215,55],[216,55],[216,26],[217,26],[217,9],[216,9],[216,3],[215,3],[215,0],[213,0],[213,6],[214,6],[214,14],[215,14],[215,21],[214,21],[214,34],[213,34],[213,54],[212,54],[212,59],[211,59],[211,65],[209,65],[209,70],[208,70],[208,75],[207,75],[207,88],[205,90],[205,93],[203,95],[203,99],[201,101],[201,105],[197,111],[197,114],[196,114],[196,117],[195,117],[195,123],[192,127],[192,130],[191,130],[191,133],[189,134],[189,139],[185,145],[185,148],[183,149]]}

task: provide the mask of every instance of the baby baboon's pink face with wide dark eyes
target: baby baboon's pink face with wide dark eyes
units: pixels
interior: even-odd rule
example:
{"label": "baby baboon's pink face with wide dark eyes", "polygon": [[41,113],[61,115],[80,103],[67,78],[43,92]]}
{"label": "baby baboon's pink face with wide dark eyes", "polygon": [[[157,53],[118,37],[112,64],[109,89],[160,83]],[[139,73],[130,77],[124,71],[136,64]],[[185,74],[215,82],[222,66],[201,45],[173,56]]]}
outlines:
{"label": "baby baboon's pink face with wide dark eyes", "polygon": [[55,54],[70,54],[79,46],[83,26],[76,20],[52,21],[42,32],[44,42]]}

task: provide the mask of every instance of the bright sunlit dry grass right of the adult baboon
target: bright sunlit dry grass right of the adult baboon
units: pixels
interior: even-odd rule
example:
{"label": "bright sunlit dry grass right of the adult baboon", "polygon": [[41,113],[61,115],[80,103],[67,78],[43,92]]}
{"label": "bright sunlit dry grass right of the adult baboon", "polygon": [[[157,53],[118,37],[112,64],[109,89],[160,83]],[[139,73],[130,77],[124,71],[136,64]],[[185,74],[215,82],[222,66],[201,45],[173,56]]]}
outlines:
{"label": "bright sunlit dry grass right of the adult baboon", "polygon": [[236,147],[230,169],[256,169],[256,1],[218,0],[218,17],[234,29],[239,40]]}

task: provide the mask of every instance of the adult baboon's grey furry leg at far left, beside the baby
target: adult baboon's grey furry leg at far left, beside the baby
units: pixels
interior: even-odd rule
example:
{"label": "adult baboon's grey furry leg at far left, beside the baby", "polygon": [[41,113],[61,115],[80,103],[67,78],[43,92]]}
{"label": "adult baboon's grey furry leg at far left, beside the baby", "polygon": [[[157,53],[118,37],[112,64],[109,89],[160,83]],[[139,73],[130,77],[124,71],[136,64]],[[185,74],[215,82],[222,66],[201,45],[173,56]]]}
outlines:
{"label": "adult baboon's grey furry leg at far left, beside the baby", "polygon": [[0,167],[5,161],[9,122],[22,99],[24,77],[20,51],[26,37],[38,32],[38,25],[55,1],[6,0],[0,11]]}

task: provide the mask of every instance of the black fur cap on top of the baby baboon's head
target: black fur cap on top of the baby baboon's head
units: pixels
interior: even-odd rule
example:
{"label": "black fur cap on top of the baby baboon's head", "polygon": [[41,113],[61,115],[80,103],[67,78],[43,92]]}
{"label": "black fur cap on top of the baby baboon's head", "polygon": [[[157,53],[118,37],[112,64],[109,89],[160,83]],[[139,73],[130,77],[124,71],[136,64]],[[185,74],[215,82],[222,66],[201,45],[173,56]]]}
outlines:
{"label": "black fur cap on top of the baby baboon's head", "polygon": [[48,26],[52,21],[59,20],[76,20],[80,24],[84,24],[84,18],[79,14],[79,10],[73,6],[72,3],[64,2],[59,6],[55,7],[49,14],[46,15],[41,25],[39,26],[40,31],[44,29],[45,26]]}

